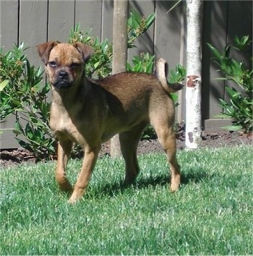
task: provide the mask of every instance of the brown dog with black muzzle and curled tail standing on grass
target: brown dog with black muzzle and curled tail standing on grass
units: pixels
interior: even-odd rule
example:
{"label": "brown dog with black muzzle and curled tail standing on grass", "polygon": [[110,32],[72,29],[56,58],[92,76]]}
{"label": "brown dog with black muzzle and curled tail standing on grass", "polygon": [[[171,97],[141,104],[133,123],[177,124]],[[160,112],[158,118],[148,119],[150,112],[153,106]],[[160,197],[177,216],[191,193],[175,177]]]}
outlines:
{"label": "brown dog with black muzzle and curled tail standing on grass", "polygon": [[[158,59],[156,74],[122,72],[93,80],[87,79],[84,71],[93,54],[90,46],[49,41],[38,45],[37,50],[51,83],[49,125],[59,140],[56,181],[61,190],[72,193],[68,202],[80,200],[101,144],[116,134],[126,164],[124,183],[132,183],[140,171],[137,145],[147,124],[155,129],[170,163],[171,191],[179,188],[181,174],[176,160],[171,93],[183,85],[168,84],[168,64],[164,59]],[[85,153],[74,189],[66,174],[73,142]]]}

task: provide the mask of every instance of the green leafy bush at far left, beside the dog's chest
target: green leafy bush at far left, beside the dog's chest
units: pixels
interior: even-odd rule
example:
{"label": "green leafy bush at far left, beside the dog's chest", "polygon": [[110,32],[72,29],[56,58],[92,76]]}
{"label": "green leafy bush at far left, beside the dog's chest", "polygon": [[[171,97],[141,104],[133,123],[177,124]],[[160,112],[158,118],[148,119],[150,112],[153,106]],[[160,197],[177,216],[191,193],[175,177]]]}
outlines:
{"label": "green leafy bush at far left, beside the dog's chest", "polygon": [[48,126],[50,103],[46,97],[50,85],[41,85],[43,72],[30,65],[24,51],[24,43],[15,45],[7,54],[1,50],[0,120],[17,111],[14,127],[14,133],[19,135],[17,141],[37,158],[49,158],[56,143]]}

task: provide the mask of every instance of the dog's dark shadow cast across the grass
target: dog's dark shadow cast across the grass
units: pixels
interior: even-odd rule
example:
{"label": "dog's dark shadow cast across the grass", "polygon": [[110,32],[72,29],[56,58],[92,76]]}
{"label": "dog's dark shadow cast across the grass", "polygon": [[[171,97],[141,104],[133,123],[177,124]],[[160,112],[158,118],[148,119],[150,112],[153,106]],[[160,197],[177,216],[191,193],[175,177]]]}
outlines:
{"label": "dog's dark shadow cast across the grass", "polygon": [[[202,168],[196,170],[189,170],[181,173],[181,185],[190,184],[190,183],[200,183],[205,182],[211,179],[213,174],[209,174]],[[93,190],[93,196],[95,197],[115,197],[117,195],[124,194],[124,192],[129,192],[129,188],[134,190],[147,189],[147,187],[156,187],[156,186],[169,186],[170,176],[163,174],[160,176],[149,176],[142,178],[139,176],[137,181],[132,184],[124,184],[124,182],[114,182],[114,183],[104,183],[98,185]],[[88,194],[90,194],[88,192]]]}

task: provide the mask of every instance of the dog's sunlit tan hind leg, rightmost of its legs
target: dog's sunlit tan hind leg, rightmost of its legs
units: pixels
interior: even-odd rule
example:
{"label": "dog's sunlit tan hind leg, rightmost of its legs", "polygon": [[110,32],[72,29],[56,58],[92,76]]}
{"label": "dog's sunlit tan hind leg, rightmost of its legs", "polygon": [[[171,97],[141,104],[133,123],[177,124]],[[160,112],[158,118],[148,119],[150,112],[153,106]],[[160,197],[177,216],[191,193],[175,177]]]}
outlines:
{"label": "dog's sunlit tan hind leg, rightmost of its legs", "polygon": [[171,191],[173,192],[179,189],[181,180],[180,166],[176,160],[176,136],[173,122],[156,120],[153,123],[153,127],[171,166]]}

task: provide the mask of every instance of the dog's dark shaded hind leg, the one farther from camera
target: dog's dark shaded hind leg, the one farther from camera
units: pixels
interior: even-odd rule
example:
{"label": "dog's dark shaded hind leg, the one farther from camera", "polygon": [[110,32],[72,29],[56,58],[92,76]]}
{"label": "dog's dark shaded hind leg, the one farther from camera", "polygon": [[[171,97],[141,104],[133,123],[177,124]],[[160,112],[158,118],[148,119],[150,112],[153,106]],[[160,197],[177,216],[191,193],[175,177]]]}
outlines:
{"label": "dog's dark shaded hind leg, the one farther from camera", "polygon": [[137,147],[146,124],[119,134],[121,152],[126,163],[126,176],[124,184],[131,184],[140,172],[137,161]]}

